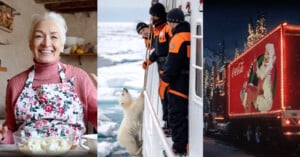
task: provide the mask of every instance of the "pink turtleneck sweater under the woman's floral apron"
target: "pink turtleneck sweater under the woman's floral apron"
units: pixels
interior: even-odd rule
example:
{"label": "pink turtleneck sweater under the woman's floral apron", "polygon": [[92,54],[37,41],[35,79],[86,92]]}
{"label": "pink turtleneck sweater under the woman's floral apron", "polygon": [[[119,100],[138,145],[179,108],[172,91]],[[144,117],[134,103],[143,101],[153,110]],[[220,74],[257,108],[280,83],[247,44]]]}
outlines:
{"label": "pink turtleneck sweater under the woman's floral apron", "polygon": [[[33,87],[37,87],[42,84],[61,82],[57,69],[58,63],[62,65],[67,80],[71,77],[75,78],[74,87],[77,95],[83,103],[85,124],[90,122],[94,129],[97,129],[97,89],[89,75],[82,69],[71,65],[65,65],[59,62],[59,60],[47,64],[41,64],[34,61],[35,76],[33,80]],[[6,118],[3,124],[3,126],[8,127],[8,134],[1,143],[13,143],[12,133],[18,129],[15,124],[14,106],[24,88],[26,79],[31,70],[32,68],[30,67],[11,78],[8,82],[6,88]]]}

